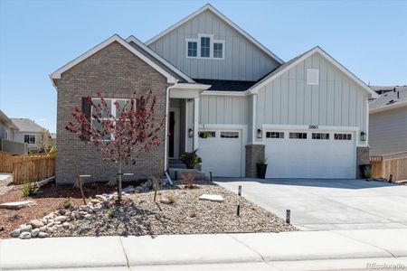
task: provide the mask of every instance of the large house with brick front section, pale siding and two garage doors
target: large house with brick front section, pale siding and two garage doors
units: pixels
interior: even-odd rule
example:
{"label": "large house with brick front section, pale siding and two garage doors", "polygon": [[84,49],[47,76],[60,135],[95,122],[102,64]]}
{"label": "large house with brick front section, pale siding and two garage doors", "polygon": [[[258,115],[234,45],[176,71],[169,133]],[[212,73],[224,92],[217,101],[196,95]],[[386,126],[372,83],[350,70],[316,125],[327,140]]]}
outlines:
{"label": "large house with brick front section, pale siding and two garage doors", "polygon": [[[57,89],[57,182],[73,182],[73,164],[93,180],[116,176],[92,145],[65,130],[73,107],[97,92],[114,101],[157,95],[166,114],[164,145],[126,171],[145,178],[198,149],[204,173],[254,177],[355,178],[367,164],[368,100],[377,94],[315,47],[284,62],[205,5],[143,43],[113,35],[51,74]],[[205,132],[205,133],[204,133]],[[169,136],[166,136],[166,135]]]}

